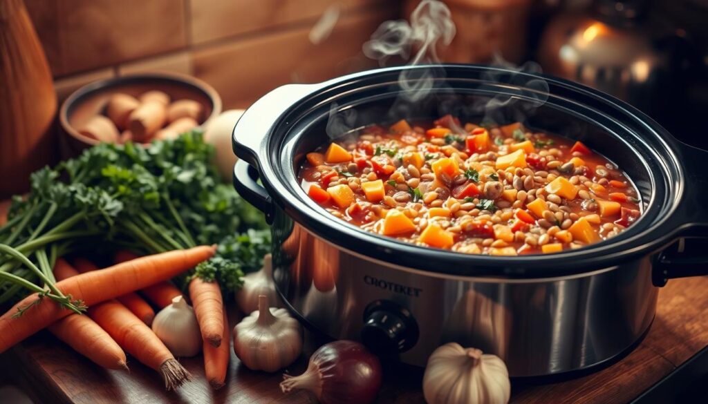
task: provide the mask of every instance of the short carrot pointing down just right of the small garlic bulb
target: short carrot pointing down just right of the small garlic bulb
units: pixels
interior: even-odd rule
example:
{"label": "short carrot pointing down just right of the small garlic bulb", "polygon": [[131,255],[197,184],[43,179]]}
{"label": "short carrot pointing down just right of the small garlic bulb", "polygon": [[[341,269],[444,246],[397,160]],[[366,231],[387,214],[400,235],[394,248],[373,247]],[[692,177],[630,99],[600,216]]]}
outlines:
{"label": "short carrot pointing down just right of the small garlic bulb", "polygon": [[219,284],[194,277],[189,282],[189,297],[202,331],[202,340],[218,347],[224,337],[224,300]]}

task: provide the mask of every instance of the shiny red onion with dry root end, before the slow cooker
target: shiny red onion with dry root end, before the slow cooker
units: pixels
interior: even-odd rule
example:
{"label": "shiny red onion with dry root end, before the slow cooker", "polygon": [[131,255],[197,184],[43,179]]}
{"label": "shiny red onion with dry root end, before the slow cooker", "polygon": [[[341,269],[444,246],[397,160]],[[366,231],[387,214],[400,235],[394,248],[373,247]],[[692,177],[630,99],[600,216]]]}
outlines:
{"label": "shiny red onion with dry root end, before the slow cooker", "polygon": [[303,374],[282,378],[283,393],[302,388],[322,404],[366,404],[381,387],[381,364],[360,343],[341,340],[316,350]]}

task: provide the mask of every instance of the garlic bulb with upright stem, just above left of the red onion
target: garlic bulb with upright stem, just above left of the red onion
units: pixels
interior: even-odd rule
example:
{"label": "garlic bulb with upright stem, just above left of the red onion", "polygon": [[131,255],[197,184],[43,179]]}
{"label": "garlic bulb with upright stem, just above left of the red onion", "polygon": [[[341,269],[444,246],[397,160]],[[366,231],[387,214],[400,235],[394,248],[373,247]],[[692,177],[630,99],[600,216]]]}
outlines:
{"label": "garlic bulb with upright stem, just above left of the red onion", "polygon": [[269,308],[258,296],[258,311],[234,327],[234,352],[253,370],[277,371],[295,362],[302,351],[302,328],[285,308]]}

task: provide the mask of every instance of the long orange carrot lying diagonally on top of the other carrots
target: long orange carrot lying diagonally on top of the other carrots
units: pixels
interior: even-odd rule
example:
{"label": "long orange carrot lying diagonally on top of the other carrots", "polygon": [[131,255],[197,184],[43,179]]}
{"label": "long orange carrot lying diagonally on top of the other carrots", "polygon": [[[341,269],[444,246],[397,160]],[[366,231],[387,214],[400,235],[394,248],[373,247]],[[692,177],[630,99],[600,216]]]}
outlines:
{"label": "long orange carrot lying diagonally on top of the other carrots", "polygon": [[[105,270],[64,279],[56,286],[63,294],[91,306],[175,277],[211,258],[215,250],[214,246],[199,246],[149,255]],[[0,353],[72,313],[56,301],[44,297],[30,294],[0,316]]]}

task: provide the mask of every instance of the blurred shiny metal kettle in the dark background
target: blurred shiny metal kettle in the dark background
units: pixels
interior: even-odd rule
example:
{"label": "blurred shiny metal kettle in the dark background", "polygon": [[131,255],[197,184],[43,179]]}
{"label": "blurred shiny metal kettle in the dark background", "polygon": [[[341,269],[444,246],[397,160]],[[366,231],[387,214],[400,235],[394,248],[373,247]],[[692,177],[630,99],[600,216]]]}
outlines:
{"label": "blurred shiny metal kettle in the dark background", "polygon": [[537,59],[544,73],[597,88],[660,122],[683,93],[685,33],[646,18],[646,1],[595,1],[589,15],[559,14],[547,25]]}

